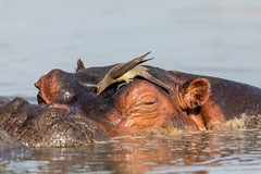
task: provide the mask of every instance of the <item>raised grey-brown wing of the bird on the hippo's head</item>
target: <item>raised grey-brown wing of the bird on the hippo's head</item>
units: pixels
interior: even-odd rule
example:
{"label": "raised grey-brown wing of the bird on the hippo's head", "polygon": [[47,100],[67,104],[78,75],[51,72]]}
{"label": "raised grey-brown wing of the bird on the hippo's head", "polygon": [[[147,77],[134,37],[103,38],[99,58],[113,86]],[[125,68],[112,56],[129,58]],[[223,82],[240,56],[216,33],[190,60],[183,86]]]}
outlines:
{"label": "raised grey-brown wing of the bird on the hippo's head", "polygon": [[[150,51],[150,52],[151,52],[151,51]],[[111,76],[113,79],[117,79],[119,77],[121,77],[122,75],[124,75],[125,73],[127,73],[129,70],[133,70],[133,69],[134,69],[135,66],[137,66],[138,64],[151,60],[152,58],[144,60],[148,54],[150,54],[150,52],[147,52],[146,54],[142,54],[142,55],[138,57],[138,58],[135,58],[135,59],[133,59],[133,60],[129,61],[129,62],[121,63],[121,64],[119,64],[119,65],[115,65],[115,66],[112,69],[112,71],[110,72],[110,76]]]}

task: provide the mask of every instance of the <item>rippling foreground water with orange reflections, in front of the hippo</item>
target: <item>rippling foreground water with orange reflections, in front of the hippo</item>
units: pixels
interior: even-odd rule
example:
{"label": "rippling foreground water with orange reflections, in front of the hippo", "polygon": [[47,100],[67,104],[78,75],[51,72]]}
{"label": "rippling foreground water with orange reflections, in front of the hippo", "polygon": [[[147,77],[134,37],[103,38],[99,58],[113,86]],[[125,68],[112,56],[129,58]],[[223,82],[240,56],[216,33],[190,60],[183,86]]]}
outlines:
{"label": "rippling foreground water with orange reflections, in front of the hippo", "polygon": [[2,167],[17,173],[252,173],[261,170],[261,135],[257,129],[124,137],[82,148],[36,149],[32,159]]}

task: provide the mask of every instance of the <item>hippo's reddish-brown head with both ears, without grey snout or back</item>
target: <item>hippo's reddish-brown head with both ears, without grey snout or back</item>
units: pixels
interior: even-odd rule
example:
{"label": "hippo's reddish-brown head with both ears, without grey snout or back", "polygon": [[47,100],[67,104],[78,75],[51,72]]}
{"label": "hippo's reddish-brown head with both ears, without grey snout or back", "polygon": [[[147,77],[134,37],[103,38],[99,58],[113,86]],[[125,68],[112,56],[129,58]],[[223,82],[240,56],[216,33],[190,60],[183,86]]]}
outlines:
{"label": "hippo's reddish-brown head with both ears, without grey snout or back", "polygon": [[148,66],[153,76],[171,86],[172,92],[137,77],[121,87],[112,84],[98,96],[95,86],[112,67],[85,69],[78,63],[76,73],[53,70],[35,84],[38,102],[76,108],[112,137],[160,127],[200,129],[201,123],[190,115],[200,115],[201,105],[209,99],[210,84],[206,78],[183,82],[171,72]]}

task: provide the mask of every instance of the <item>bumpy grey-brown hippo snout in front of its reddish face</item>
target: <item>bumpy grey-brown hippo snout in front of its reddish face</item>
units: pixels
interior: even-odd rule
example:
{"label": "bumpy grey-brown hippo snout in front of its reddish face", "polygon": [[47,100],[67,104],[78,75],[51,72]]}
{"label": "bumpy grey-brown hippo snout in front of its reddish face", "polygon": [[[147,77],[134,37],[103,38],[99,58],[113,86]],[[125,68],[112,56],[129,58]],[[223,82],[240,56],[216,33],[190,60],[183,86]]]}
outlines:
{"label": "bumpy grey-brown hippo snout in front of its reddish face", "polygon": [[28,147],[72,147],[109,137],[80,112],[29,104],[15,98],[0,107],[0,125]]}

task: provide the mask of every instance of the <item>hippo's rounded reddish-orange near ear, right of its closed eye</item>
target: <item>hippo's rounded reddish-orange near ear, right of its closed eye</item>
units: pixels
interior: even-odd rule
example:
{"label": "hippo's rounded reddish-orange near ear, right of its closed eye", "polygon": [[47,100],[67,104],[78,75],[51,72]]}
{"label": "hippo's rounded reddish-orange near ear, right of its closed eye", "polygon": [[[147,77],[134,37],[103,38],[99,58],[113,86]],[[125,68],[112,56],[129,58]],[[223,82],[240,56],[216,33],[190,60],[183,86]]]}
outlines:
{"label": "hippo's rounded reddish-orange near ear, right of its closed eye", "polygon": [[203,105],[209,96],[210,83],[206,78],[194,78],[179,86],[178,100],[183,110]]}

